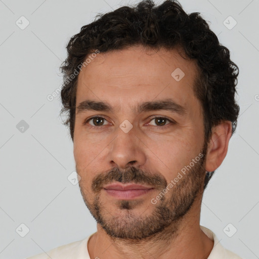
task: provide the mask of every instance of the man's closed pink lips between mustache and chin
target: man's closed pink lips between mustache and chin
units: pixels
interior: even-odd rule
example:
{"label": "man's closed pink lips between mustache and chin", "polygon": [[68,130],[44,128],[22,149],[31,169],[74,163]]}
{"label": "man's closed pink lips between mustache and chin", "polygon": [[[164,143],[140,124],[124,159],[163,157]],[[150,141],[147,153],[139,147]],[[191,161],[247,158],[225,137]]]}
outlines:
{"label": "man's closed pink lips between mustache and chin", "polygon": [[151,192],[154,188],[139,184],[118,184],[113,183],[104,186],[104,191],[117,199],[131,200]]}

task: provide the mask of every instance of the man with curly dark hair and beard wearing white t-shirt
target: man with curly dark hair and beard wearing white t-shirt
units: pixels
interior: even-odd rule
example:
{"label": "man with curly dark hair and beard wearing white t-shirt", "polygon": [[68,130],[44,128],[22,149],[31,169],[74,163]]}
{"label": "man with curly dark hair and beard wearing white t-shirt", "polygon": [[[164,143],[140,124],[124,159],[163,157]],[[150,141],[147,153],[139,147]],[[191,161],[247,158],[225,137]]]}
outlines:
{"label": "man with curly dark hair and beard wearing white t-shirt", "polygon": [[199,13],[122,7],[67,51],[62,112],[97,232],[30,258],[240,258],[199,223],[239,113],[238,67]]}

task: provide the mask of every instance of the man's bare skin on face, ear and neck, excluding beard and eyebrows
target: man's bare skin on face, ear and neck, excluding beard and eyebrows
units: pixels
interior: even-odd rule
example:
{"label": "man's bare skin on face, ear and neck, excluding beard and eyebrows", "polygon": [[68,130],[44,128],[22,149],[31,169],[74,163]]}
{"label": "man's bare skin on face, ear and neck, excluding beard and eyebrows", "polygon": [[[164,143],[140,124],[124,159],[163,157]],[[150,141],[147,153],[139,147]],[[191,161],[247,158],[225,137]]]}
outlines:
{"label": "man's bare skin on face, ear and neck, excluding beard and eyebrows", "polygon": [[[185,72],[180,81],[171,76],[176,68]],[[204,144],[204,126],[201,105],[192,88],[196,73],[195,61],[183,59],[176,49],[147,51],[141,46],[100,53],[81,70],[78,75],[76,107],[88,99],[106,101],[114,108],[112,113],[85,111],[76,114],[74,158],[77,173],[81,177],[80,190],[90,210],[97,195],[92,190],[93,180],[114,167],[123,170],[134,165],[143,171],[160,175],[169,183],[184,166],[197,157]],[[187,113],[184,116],[166,110],[135,113],[131,109],[139,102],[168,97],[184,106]],[[86,119],[97,115],[105,118],[101,129],[97,128],[93,120],[83,124]],[[153,115],[165,116],[176,123],[170,124],[167,121],[164,128],[158,129],[160,124],[155,123],[155,119],[151,117]],[[119,127],[125,119],[133,125],[128,133],[124,133]],[[91,128],[94,125],[95,128]],[[212,128],[203,164],[203,179],[205,170],[214,171],[223,162],[231,130],[230,121],[222,121]],[[181,186],[180,183],[178,185]],[[213,241],[200,229],[203,182],[198,186],[199,192],[184,217],[157,235],[136,242],[112,238],[97,224],[97,232],[88,243],[90,257],[207,258]],[[132,217],[137,220],[151,215],[155,206],[150,200],[158,193],[154,189],[137,197],[137,204],[130,211]],[[169,194],[165,198],[168,200]],[[126,219],[128,211],[119,209],[116,198],[106,195],[102,190],[100,200],[105,219]]]}

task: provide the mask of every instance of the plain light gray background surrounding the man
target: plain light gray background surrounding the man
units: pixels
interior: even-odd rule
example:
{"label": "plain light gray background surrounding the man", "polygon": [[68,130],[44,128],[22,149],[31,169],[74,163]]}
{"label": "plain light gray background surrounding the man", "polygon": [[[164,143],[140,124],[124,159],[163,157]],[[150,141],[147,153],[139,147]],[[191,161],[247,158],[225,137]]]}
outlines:
{"label": "plain light gray background surrounding the man", "polygon": [[[67,179],[75,164],[72,141],[59,117],[59,96],[47,97],[62,83],[59,66],[69,38],[97,13],[136,2],[0,0],[0,258],[24,258],[96,231],[78,185]],[[243,258],[259,258],[258,0],[180,3],[210,21],[240,68],[238,127],[205,191],[201,225]],[[16,24],[26,24],[21,16],[30,23],[25,29]],[[232,29],[224,25],[229,16],[237,21]],[[22,223],[30,230],[25,237],[20,236],[26,231]],[[224,232],[229,223],[229,235],[237,229],[232,237]]]}

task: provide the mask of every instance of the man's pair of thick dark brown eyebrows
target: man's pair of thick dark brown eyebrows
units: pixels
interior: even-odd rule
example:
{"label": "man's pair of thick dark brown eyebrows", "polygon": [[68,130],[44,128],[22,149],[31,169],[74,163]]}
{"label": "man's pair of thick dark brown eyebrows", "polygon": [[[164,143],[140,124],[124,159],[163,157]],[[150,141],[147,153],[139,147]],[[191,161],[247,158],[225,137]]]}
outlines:
{"label": "man's pair of thick dark brown eyebrows", "polygon": [[[180,115],[184,115],[187,113],[187,109],[185,107],[176,103],[172,99],[164,99],[164,100],[159,100],[155,102],[152,102],[152,101],[143,102],[143,103],[139,103],[136,108],[132,108],[132,111],[135,113],[155,111],[155,110],[167,110],[170,112],[178,113]],[[114,109],[107,102],[85,100],[77,106],[76,114],[85,112],[85,111],[114,112]]]}

